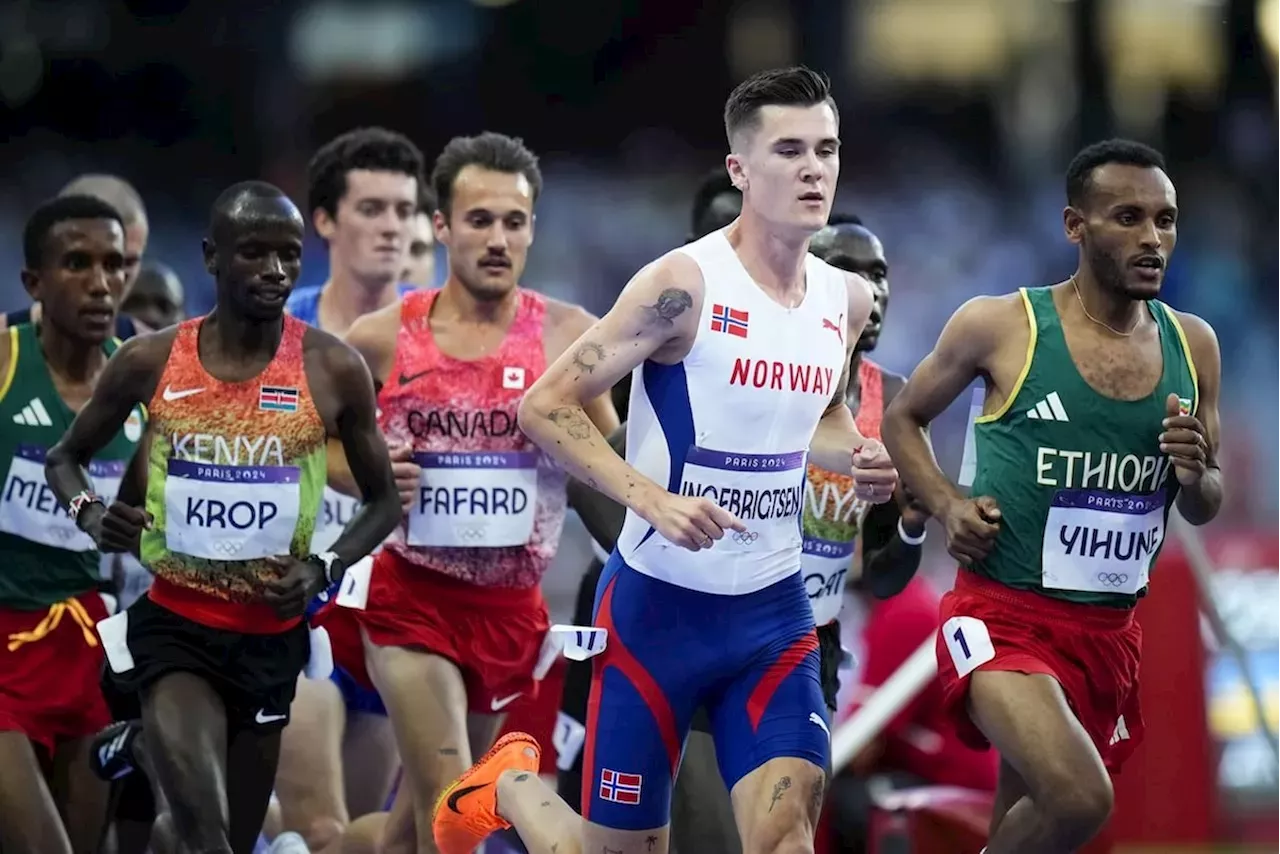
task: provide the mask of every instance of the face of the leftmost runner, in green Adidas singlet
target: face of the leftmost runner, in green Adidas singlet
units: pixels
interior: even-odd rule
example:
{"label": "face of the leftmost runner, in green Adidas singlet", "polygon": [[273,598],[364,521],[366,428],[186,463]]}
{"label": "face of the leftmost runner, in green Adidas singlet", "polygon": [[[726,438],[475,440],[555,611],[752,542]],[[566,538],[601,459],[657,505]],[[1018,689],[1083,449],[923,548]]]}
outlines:
{"label": "face of the leftmost runner, in green Adidas singlet", "polygon": [[22,271],[27,293],[41,303],[41,323],[87,344],[115,333],[124,278],[124,229],[114,219],[55,224],[40,268]]}

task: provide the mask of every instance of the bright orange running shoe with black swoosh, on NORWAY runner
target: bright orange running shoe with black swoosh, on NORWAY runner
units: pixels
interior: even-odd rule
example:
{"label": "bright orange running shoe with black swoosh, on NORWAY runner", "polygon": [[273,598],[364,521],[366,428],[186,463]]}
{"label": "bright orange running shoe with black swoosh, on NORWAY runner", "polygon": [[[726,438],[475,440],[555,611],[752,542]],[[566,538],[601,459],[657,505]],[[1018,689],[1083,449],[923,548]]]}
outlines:
{"label": "bright orange running shoe with black swoosh, on NORWAY runner", "polygon": [[471,854],[489,834],[511,827],[498,814],[503,771],[538,773],[543,749],[527,732],[508,732],[477,763],[440,793],[431,832],[440,854]]}

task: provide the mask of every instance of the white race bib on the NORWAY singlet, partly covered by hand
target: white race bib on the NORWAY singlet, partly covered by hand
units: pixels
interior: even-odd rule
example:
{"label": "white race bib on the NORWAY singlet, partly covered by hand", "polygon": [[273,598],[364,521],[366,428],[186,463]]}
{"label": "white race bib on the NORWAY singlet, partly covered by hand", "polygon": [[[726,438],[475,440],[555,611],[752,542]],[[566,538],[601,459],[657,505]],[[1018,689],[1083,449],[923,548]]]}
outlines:
{"label": "white race bib on the NORWAY singlet, partly covered by hand", "polygon": [[689,449],[680,494],[707,498],[746,525],[745,531],[726,531],[717,553],[767,553],[800,544],[805,455]]}

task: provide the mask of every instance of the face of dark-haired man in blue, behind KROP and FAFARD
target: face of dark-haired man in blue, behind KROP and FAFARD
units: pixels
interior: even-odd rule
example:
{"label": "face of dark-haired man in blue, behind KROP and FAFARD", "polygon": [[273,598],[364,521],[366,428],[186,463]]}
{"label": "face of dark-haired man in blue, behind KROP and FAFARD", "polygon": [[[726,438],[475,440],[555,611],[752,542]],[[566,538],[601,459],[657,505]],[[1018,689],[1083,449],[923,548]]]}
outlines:
{"label": "face of dark-haired man in blue, behind KROP and FAFARD", "polygon": [[410,225],[417,211],[417,178],[402,172],[352,169],[337,215],[315,211],[316,233],[329,243],[333,266],[369,287],[399,278]]}

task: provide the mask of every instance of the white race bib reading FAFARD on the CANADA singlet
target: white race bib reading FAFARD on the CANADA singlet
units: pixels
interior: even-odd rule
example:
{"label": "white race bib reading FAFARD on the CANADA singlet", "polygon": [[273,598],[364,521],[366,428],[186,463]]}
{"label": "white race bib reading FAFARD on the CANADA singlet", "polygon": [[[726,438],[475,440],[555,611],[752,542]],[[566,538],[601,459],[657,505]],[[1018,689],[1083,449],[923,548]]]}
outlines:
{"label": "white race bib reading FAFARD on the CANADA singlet", "polygon": [[503,548],[534,533],[538,452],[416,453],[422,466],[408,515],[410,545]]}

